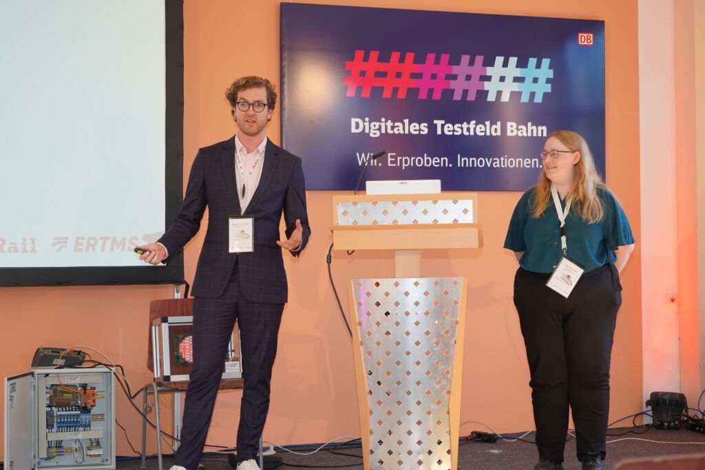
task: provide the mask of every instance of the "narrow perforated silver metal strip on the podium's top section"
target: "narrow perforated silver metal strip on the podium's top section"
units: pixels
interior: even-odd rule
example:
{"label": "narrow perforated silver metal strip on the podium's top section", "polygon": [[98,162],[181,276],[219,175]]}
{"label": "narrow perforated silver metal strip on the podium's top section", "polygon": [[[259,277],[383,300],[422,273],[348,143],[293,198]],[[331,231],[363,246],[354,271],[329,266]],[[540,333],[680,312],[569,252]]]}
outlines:
{"label": "narrow perforated silver metal strip on the podium's top section", "polygon": [[472,199],[338,202],[338,225],[474,223]]}

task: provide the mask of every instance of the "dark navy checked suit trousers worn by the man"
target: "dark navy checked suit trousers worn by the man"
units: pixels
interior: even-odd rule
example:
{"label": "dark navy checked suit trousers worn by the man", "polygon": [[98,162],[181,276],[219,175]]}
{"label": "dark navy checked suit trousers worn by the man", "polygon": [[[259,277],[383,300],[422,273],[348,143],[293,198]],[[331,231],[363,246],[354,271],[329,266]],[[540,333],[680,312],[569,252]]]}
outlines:
{"label": "dark navy checked suit trousers worn by the man", "polygon": [[200,462],[221,381],[223,360],[235,321],[240,328],[245,388],[240,402],[238,461],[259,452],[269,411],[271,370],[284,304],[250,302],[243,296],[235,266],[223,295],[193,303],[193,369],[186,390],[176,464],[195,470]]}

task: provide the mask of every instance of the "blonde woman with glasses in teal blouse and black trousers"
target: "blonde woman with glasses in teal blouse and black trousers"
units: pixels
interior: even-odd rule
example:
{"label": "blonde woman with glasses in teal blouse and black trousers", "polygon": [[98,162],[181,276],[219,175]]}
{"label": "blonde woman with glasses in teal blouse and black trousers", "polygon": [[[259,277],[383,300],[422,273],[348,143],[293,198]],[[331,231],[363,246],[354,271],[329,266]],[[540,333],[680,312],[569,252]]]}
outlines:
{"label": "blonde woman with glasses in teal blouse and black trousers", "polygon": [[572,410],[583,470],[603,470],[610,355],[632,230],[587,142],[548,136],[536,186],[517,203],[504,247],[519,261],[514,304],[531,371],[539,463],[562,470]]}

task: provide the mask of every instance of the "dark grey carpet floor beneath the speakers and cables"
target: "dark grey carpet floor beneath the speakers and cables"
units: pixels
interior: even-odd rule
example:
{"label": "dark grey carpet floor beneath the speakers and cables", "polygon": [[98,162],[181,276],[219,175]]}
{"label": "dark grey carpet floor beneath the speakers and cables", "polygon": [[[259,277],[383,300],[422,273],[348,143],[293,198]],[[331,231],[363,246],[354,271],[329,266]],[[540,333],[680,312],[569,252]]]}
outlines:
{"label": "dark grey carpet floor beneath the speakers and cables", "polygon": [[[646,432],[644,432],[646,431]],[[639,433],[638,435],[635,433]],[[685,428],[679,431],[659,430],[655,428],[614,428],[608,431],[606,469],[610,470],[625,459],[635,457],[658,457],[671,454],[705,454],[705,434],[688,431]],[[525,440],[532,441],[533,435]],[[691,444],[694,443],[694,444]],[[298,451],[310,451],[311,448],[297,448]],[[355,454],[358,457],[348,457],[333,452]],[[362,469],[362,459],[359,457],[359,446],[342,450],[326,449],[304,457],[288,452],[278,452],[284,465],[278,468],[290,469]],[[496,443],[463,442],[460,443],[458,452],[458,470],[532,470],[538,460],[534,444],[522,441],[506,442],[498,440]],[[168,470],[173,459],[164,457],[164,470]],[[206,454],[202,464],[207,470],[229,470],[225,457]],[[136,470],[141,468],[141,461],[137,459],[119,460],[118,470]],[[575,459],[575,438],[568,436],[565,445],[565,470],[579,470],[580,463]],[[147,469],[159,469],[156,458],[147,459]],[[412,470],[412,469],[395,469]]]}

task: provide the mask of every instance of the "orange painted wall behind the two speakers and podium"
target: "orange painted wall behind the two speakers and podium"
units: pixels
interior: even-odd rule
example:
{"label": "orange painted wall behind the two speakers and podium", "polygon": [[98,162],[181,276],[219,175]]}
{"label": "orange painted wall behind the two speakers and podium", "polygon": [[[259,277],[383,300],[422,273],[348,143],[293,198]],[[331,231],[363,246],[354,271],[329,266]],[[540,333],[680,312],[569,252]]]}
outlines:
{"label": "orange painted wall behind the two speakers and podium", "polygon": [[[185,173],[188,174],[198,147],[233,134],[223,92],[234,78],[255,74],[279,82],[279,3],[185,1]],[[623,203],[637,238],[637,250],[623,273],[624,301],[612,361],[611,419],[641,411],[637,2],[319,0],[316,3],[605,20],[608,185]],[[240,26],[241,23],[246,26]],[[269,136],[280,142],[278,116],[269,128]],[[305,155],[302,159],[306,172],[317,171],[306,167]],[[352,346],[337,311],[325,264],[331,243],[333,194],[307,194],[313,236],[300,259],[287,259],[290,302],[282,323],[271,410],[264,430],[265,440],[278,444],[319,443],[339,436],[360,436]],[[502,248],[506,226],[519,197],[519,192],[479,194],[484,248],[438,250],[422,255],[424,276],[469,279],[461,422],[483,421],[498,432],[533,427],[529,373],[512,304],[516,261],[513,254]],[[193,278],[201,243],[202,237],[197,237],[186,249],[188,280]],[[348,256],[335,252],[332,269],[347,310],[345,280],[393,277],[393,254],[355,252]],[[150,380],[145,366],[149,302],[170,297],[170,287],[0,288],[0,318],[4,322],[0,338],[6,346],[0,375],[27,371],[39,346],[88,345],[123,364],[133,386],[140,388]],[[135,448],[139,448],[139,417],[122,392],[117,395],[118,422],[127,429]],[[238,391],[221,392],[209,443],[235,445],[239,398]],[[164,399],[165,407],[170,400],[171,397]],[[470,433],[478,427],[476,423],[462,426],[461,433]],[[133,454],[123,433],[118,432],[117,440],[118,454]],[[152,440],[150,451],[154,448]]]}

